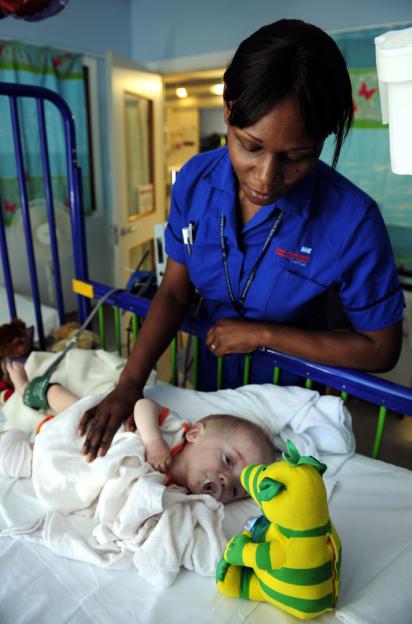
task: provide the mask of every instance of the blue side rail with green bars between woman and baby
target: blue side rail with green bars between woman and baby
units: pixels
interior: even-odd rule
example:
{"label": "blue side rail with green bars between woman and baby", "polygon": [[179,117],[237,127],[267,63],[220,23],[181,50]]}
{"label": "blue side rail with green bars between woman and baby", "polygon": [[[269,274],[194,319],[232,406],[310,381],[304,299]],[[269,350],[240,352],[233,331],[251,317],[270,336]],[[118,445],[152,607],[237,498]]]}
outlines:
{"label": "blue side rail with green bars between woman and baby", "polygon": [[[86,296],[96,300],[101,299],[110,290],[109,286],[94,281],[88,281],[86,284],[84,282],[79,283],[86,286],[86,289],[83,288],[83,293]],[[89,289],[88,292],[86,292],[87,288]],[[75,290],[76,292],[80,292],[82,288],[80,287],[80,289]],[[115,327],[116,347],[120,353],[120,310],[126,310],[132,314],[132,319],[134,321],[133,337],[134,340],[136,340],[138,339],[140,321],[146,316],[149,310],[150,300],[132,295],[127,291],[118,291],[108,297],[107,304],[111,305],[114,309],[115,325],[117,324],[117,327]],[[99,329],[101,337],[103,336],[104,347],[104,320],[102,313],[100,315]],[[204,340],[207,330],[208,325],[204,321],[190,317],[186,318],[181,326],[181,331],[187,332],[195,337],[194,373],[192,375],[192,382],[195,388],[197,384],[197,341]],[[177,382],[176,355],[177,341],[174,339],[172,343],[172,380],[174,383]],[[248,383],[250,368],[253,366],[253,362],[261,358],[269,359],[272,362],[274,383],[279,383],[281,371],[288,371],[302,378],[305,381],[305,386],[307,388],[311,388],[312,383],[317,382],[329,388],[333,388],[334,390],[338,390],[344,400],[346,400],[349,396],[353,396],[376,405],[379,409],[372,457],[377,457],[379,455],[387,411],[392,410],[405,416],[412,416],[411,388],[406,388],[405,386],[374,377],[373,375],[369,375],[367,373],[354,371],[348,368],[316,364],[308,360],[301,360],[289,355],[284,355],[270,349],[261,349],[253,354],[245,356],[243,379],[245,384]],[[222,379],[221,370],[222,369],[219,367],[218,362],[218,373],[216,379],[217,389],[224,386],[224,379]]]}

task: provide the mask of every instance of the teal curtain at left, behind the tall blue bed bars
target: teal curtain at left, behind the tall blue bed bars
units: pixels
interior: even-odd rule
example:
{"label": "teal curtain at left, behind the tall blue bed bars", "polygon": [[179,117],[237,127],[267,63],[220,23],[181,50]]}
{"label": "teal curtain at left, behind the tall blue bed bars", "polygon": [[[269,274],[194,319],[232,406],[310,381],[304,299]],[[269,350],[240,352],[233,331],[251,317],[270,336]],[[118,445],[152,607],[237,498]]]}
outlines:
{"label": "teal curtain at left, behind the tall blue bed bars", "polygon": [[[87,132],[86,92],[82,56],[8,41],[0,42],[0,81],[46,87],[63,97],[71,109],[76,129],[79,164],[82,168],[85,211],[91,210],[91,177]],[[19,102],[25,179],[29,201],[44,198],[37,110],[34,100]],[[66,151],[63,124],[57,108],[45,104],[46,128],[53,198],[68,206]],[[17,170],[8,98],[0,98],[0,197],[4,220],[9,224],[19,210]]]}

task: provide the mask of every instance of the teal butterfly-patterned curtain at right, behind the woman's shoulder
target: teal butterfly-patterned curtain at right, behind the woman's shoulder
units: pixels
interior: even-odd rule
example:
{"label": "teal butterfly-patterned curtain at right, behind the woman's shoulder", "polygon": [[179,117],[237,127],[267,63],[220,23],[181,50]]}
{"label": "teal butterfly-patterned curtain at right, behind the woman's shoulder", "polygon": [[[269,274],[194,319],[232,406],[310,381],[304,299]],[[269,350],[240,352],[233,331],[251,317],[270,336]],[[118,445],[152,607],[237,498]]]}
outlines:
{"label": "teal butterfly-patterned curtain at right, behind the woman's shoulder", "polygon": [[[392,173],[389,131],[382,125],[374,38],[411,24],[369,28],[332,35],[347,62],[352,81],[354,126],[337,169],[371,195],[387,224],[399,264],[412,268],[412,179]],[[411,111],[412,123],[412,111]],[[322,158],[332,159],[333,141]]]}

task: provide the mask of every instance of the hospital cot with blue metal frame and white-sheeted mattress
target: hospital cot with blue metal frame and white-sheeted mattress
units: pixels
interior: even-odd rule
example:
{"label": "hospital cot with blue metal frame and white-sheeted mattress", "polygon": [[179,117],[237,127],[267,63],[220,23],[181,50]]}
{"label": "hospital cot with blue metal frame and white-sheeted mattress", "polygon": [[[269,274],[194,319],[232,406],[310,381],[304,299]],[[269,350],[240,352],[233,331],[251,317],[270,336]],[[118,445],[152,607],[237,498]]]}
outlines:
{"label": "hospital cot with blue metal frame and white-sheeted mattress", "polygon": [[[98,302],[111,289],[88,276],[87,252],[81,204],[80,170],[77,166],[73,121],[66,104],[56,94],[44,89],[20,85],[0,85],[0,95],[10,101],[11,123],[18,178],[21,210],[25,227],[27,258],[33,288],[33,307],[40,347],[44,341],[42,307],[36,286],[36,262],[30,243],[30,214],[27,202],[23,156],[19,136],[17,101],[36,98],[39,132],[42,137],[42,160],[46,198],[51,225],[52,254],[59,317],[64,320],[64,304],[59,298],[58,244],[53,233],[53,201],[50,191],[47,139],[44,129],[44,102],[51,101],[62,114],[67,150],[67,171],[72,224],[72,245],[75,259],[74,290],[77,293],[79,321],[85,320],[91,302]],[[1,166],[1,165],[0,165]],[[16,316],[13,280],[8,258],[5,227],[0,219],[0,251],[9,317]],[[138,340],[141,319],[150,301],[127,291],[112,293],[106,303],[113,310],[116,348],[122,350],[121,311],[130,314],[133,340]],[[99,331],[102,346],[106,343],[105,323],[108,314],[99,311]],[[195,318],[187,318],[182,326],[193,336],[192,383],[196,388],[201,371],[196,366],[199,343],[206,326]],[[163,386],[162,397],[168,403],[178,400],[173,382],[177,381],[178,341],[172,343],[172,384]],[[412,622],[412,472],[377,459],[385,418],[388,410],[412,416],[412,391],[408,388],[354,372],[317,365],[269,350],[245,357],[244,384],[248,383],[251,367],[260,359],[273,363],[273,383],[281,381],[282,371],[300,376],[308,392],[314,383],[335,389],[342,400],[358,397],[376,406],[376,435],[371,443],[371,457],[353,455],[343,462],[330,484],[331,516],[343,542],[342,591],[338,610],[318,618],[321,623],[381,623]],[[217,390],[224,388],[222,367],[218,364]],[[195,390],[188,390],[195,392]],[[155,395],[154,395],[155,396]],[[176,398],[177,397],[177,398]],[[196,398],[196,394],[193,395]],[[213,397],[213,393],[210,395]],[[193,400],[195,400],[195,398]],[[205,403],[202,396],[202,405]],[[181,410],[180,410],[181,411]],[[16,518],[22,522],[36,514],[30,496],[30,482],[0,479],[0,500],[8,501]],[[226,507],[225,530],[228,536],[238,532],[245,519],[255,512],[251,501],[233,503]],[[0,528],[7,518],[0,514]],[[250,622],[289,623],[294,618],[274,607],[248,601],[232,600],[220,595],[214,580],[183,570],[169,588],[149,585],[137,572],[120,572],[94,567],[53,555],[44,546],[30,541],[8,538],[0,540],[0,622],[32,624],[73,624],[102,622],[202,622],[228,624]]]}

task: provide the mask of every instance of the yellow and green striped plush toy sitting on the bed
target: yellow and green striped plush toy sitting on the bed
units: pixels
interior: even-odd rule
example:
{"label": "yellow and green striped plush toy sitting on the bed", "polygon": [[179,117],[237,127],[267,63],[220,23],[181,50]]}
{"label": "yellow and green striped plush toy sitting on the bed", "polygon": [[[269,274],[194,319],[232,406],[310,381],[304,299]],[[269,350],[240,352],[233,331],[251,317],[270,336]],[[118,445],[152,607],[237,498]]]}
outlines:
{"label": "yellow and green striped plush toy sitting on the bed", "polygon": [[243,487],[263,515],[228,542],[216,570],[227,596],[272,603],[303,620],[335,608],[341,545],[322,474],[289,440],[283,460],[246,466]]}

